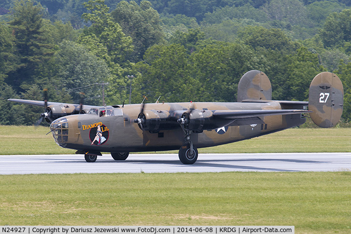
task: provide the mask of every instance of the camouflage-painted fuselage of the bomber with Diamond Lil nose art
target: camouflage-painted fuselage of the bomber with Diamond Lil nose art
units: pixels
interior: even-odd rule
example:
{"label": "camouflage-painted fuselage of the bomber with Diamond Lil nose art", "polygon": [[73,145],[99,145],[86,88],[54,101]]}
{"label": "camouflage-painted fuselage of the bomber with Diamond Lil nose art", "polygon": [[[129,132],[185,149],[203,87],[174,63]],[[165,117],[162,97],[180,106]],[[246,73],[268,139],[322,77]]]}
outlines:
{"label": "camouflage-painted fuselage of the bomber with Diamond Lil nose art", "polygon": [[[190,108],[196,110],[280,110],[286,109],[278,101],[266,103],[245,102],[183,102],[146,104],[145,111],[166,112],[171,116]],[[302,106],[301,106],[302,107]],[[176,121],[167,122],[167,130],[142,131],[134,119],[140,113],[141,104],[124,107],[100,107],[112,116],[97,114],[72,115],[56,119],[50,126],[56,142],[65,148],[94,152],[142,152],[178,150],[184,142],[184,132]],[[302,109],[302,108],[301,108]],[[93,113],[93,112],[92,112]],[[303,124],[301,114],[260,117],[261,121],[246,120],[243,125],[235,122],[213,130],[191,133],[190,139],[197,148],[259,137]],[[160,123],[162,126],[162,123]],[[99,128],[99,129],[98,129]]]}

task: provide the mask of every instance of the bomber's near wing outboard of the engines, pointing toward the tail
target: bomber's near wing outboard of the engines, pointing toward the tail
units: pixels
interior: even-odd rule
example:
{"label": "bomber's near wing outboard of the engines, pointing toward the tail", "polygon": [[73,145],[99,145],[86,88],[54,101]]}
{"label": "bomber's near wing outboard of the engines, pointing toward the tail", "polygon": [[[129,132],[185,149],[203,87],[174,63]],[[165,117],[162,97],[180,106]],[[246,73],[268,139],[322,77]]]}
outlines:
{"label": "bomber's near wing outboard of the engines, pointing toward the tail", "polygon": [[262,116],[293,115],[310,113],[308,110],[216,110],[215,118],[238,119],[238,118],[256,118]]}

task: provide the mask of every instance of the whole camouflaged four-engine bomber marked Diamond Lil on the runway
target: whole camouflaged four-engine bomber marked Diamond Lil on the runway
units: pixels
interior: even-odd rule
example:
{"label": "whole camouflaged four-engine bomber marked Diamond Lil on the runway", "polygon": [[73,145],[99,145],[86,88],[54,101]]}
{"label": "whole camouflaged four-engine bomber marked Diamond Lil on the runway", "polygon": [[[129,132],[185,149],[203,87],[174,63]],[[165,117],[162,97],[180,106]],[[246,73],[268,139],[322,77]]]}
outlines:
{"label": "whole camouflaged four-engine bomber marked Diamond Lil on the runway", "polygon": [[[147,103],[89,106],[9,99],[45,107],[56,143],[77,150],[87,162],[101,152],[125,160],[130,152],[179,150],[182,163],[195,163],[197,148],[227,144],[299,126],[310,115],[319,127],[335,126],[344,90],[333,73],[313,78],[309,101],[272,100],[269,78],[261,71],[243,75],[237,102]],[[45,98],[46,99],[46,98]]]}

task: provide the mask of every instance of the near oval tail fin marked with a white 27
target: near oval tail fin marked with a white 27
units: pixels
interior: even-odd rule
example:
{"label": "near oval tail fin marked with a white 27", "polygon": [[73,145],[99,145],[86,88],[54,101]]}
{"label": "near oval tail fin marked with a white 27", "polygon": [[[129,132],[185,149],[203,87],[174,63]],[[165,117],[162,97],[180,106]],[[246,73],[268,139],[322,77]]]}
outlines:
{"label": "near oval tail fin marked with a white 27", "polygon": [[319,127],[330,128],[340,120],[343,112],[344,88],[338,76],[322,72],[310,85],[309,110],[312,121]]}

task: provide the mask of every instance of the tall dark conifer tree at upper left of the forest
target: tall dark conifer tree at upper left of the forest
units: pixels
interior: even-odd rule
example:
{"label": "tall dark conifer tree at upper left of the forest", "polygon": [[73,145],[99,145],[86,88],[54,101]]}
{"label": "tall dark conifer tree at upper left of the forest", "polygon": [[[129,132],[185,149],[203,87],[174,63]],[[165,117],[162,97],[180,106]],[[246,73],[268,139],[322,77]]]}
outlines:
{"label": "tall dark conifer tree at upper left of the forest", "polygon": [[18,91],[24,91],[24,85],[33,84],[40,64],[54,53],[53,44],[43,32],[41,11],[41,6],[34,5],[31,0],[16,1],[8,23],[15,37],[17,67],[5,80]]}

